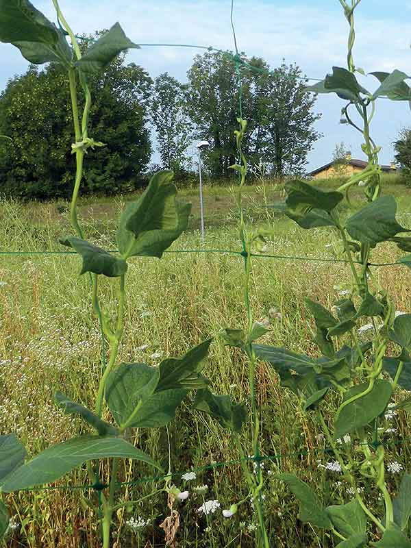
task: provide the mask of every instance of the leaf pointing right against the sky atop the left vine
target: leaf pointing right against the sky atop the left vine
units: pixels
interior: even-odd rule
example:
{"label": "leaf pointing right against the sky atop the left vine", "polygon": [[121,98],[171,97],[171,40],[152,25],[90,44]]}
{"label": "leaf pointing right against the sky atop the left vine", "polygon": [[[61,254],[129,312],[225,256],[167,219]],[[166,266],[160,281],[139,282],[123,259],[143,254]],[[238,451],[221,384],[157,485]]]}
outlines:
{"label": "leaf pointing right against the sky atop the left vine", "polygon": [[103,72],[119,53],[131,48],[140,49],[140,46],[129,40],[121,25],[116,23],[90,46],[75,64],[83,73],[98,74]]}

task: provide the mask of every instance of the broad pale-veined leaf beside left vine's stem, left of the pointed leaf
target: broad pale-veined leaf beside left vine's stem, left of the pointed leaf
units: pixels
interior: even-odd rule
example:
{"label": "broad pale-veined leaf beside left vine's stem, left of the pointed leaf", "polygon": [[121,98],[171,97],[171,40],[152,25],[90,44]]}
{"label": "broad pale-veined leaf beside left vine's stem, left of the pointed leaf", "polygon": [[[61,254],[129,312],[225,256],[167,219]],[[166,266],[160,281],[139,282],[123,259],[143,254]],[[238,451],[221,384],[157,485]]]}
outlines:
{"label": "broad pale-veined leaf beside left vine's stem, left of the pointed leaf", "polygon": [[153,395],[159,379],[158,368],[146,364],[121,364],[110,373],[105,383],[105,401],[121,428],[133,424],[138,410]]}

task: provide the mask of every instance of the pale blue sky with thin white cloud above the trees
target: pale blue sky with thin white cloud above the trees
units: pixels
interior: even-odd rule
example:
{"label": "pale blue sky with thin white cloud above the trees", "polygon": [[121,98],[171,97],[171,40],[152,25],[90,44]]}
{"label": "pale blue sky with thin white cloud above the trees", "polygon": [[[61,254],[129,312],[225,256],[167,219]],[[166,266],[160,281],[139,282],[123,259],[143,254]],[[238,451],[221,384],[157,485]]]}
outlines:
{"label": "pale blue sky with thin white cloud above the trees", "polygon": [[[54,18],[51,0],[32,0]],[[77,33],[123,25],[134,42],[177,42],[233,49],[229,23],[231,0],[60,0]],[[297,62],[310,77],[323,77],[332,65],[345,66],[347,23],[338,0],[236,0],[235,24],[239,49],[263,57],[275,67],[285,58]],[[411,75],[411,0],[362,0],[356,10],[355,60],[366,72],[400,69]],[[0,89],[27,64],[17,50],[0,44]],[[152,76],[168,71],[184,80],[195,49],[144,47],[127,60],[142,65]],[[362,84],[373,90],[375,79]],[[355,158],[363,158],[361,136],[338,123],[341,101],[321,96],[316,110],[323,118],[316,129],[324,134],[310,153],[309,167],[330,160],[336,142],[344,141]],[[399,130],[411,126],[407,103],[383,99],[377,105],[371,134],[383,147],[380,159],[393,158],[392,142]]]}

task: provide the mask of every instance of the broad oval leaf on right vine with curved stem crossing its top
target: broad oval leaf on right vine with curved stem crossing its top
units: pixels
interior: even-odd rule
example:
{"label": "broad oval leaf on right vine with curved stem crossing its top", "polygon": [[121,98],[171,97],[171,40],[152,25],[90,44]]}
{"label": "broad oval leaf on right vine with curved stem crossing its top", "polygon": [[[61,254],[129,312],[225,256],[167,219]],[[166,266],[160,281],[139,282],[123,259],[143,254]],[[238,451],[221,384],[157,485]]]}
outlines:
{"label": "broad oval leaf on right vine with curved stem crossing its top", "polygon": [[[363,393],[369,384],[364,382],[347,391],[345,401]],[[334,438],[343,438],[364,427],[382,414],[390,401],[393,388],[388,381],[377,379],[371,391],[345,406],[337,416]]]}

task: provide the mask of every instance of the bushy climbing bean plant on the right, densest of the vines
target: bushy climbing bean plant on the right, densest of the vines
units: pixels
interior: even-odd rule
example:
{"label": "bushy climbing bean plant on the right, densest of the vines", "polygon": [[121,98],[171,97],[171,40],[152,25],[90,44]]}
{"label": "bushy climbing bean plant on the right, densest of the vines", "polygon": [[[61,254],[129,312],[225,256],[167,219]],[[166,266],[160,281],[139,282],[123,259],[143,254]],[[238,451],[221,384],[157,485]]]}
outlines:
{"label": "bushy climbing bean plant on the right, densest of the vines", "polygon": [[[334,93],[345,101],[341,122],[348,123],[364,138],[362,150],[368,164],[362,173],[349,178],[336,191],[325,191],[294,180],[286,184],[285,214],[303,229],[328,227],[339,236],[351,270],[351,290],[327,310],[321,303],[306,299],[305,306],[315,323],[313,342],[319,356],[306,356],[290,349],[254,345],[256,355],[277,371],[284,388],[301,400],[306,413],[317,417],[353,499],[325,508],[315,490],[291,474],[279,475],[299,499],[299,519],[329,531],[338,548],[411,548],[411,475],[405,473],[395,497],[386,482],[386,451],[382,436],[387,432],[387,409],[411,411],[410,399],[394,403],[399,388],[411,389],[411,314],[396,314],[395,303],[373,275],[371,256],[385,242],[394,242],[401,251],[411,251],[411,227],[396,219],[397,203],[392,195],[382,195],[379,147],[370,135],[377,101],[410,101],[410,77],[401,71],[371,73],[379,84],[369,92],[358,81],[353,59],[354,12],[360,0],[340,0],[349,23],[347,69],[334,66],[323,81],[307,92]],[[364,204],[353,212],[349,192],[360,185]],[[348,206],[345,214],[341,205]],[[347,210],[347,208],[345,208]],[[411,268],[411,255],[399,262]],[[370,340],[360,338],[358,327],[364,318],[371,323]],[[360,329],[361,332],[361,329]],[[334,397],[338,409],[331,420],[323,408]],[[347,443],[350,442],[350,443]],[[353,446],[353,450],[351,447]],[[384,512],[371,510],[359,488],[367,482],[379,490]]]}

